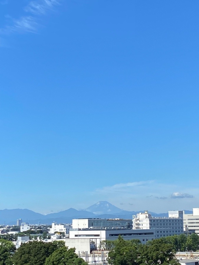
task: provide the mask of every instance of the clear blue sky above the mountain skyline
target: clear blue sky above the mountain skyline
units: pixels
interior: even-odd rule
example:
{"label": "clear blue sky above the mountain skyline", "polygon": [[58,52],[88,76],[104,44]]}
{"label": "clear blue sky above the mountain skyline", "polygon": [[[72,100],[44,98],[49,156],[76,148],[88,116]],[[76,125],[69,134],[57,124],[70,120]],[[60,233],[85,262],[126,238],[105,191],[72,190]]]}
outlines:
{"label": "clear blue sky above the mountain skyline", "polygon": [[198,0],[0,1],[0,209],[199,207]]}

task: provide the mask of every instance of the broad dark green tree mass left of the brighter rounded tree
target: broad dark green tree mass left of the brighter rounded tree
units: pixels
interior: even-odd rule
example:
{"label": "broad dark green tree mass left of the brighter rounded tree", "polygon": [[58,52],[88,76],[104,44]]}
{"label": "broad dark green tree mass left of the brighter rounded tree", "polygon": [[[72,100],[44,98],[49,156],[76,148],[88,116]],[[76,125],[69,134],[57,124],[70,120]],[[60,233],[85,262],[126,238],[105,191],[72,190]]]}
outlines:
{"label": "broad dark green tree mass left of the brighter rounded tree", "polygon": [[22,244],[13,256],[14,265],[44,265],[55,250],[65,246],[64,241],[44,243],[32,241]]}

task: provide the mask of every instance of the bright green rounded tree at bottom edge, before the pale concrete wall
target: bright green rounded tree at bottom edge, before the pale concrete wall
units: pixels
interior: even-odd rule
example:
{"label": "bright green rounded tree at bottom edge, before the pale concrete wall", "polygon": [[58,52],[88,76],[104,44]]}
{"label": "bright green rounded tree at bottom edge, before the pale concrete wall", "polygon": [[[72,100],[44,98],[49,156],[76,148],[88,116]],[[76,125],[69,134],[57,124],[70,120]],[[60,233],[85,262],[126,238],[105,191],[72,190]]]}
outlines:
{"label": "bright green rounded tree at bottom edge, before the pale concrete wall", "polygon": [[55,250],[45,261],[45,265],[87,265],[75,254],[75,248],[61,247]]}

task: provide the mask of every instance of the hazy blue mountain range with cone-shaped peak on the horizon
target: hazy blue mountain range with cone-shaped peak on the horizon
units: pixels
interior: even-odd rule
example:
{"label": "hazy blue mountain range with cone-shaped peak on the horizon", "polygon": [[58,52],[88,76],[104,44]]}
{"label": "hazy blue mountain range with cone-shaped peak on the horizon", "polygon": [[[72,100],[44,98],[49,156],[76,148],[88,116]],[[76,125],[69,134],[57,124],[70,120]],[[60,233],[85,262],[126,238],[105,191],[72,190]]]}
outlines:
{"label": "hazy blue mountain range with cone-shaped peak on the horizon", "polygon": [[[132,219],[132,215],[137,213],[143,213],[144,211],[123,211],[122,209],[114,206],[107,201],[99,201],[86,208],[85,210],[78,211],[70,208],[58,213],[49,213],[43,215],[41,213],[35,213],[28,209],[4,209],[0,210],[0,224],[14,225],[17,219],[21,218],[24,222],[31,224],[51,224],[57,223],[72,223],[72,219],[75,218],[124,218]],[[154,217],[168,217],[168,213],[153,213]],[[192,211],[185,211],[185,213],[193,213]]]}

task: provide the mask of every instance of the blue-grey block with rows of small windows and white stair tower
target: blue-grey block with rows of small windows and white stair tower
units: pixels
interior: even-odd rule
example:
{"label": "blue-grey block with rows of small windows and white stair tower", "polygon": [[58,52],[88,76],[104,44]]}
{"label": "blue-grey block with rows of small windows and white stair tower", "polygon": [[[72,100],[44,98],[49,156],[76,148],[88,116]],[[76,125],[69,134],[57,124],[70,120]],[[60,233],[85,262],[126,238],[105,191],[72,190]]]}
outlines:
{"label": "blue-grey block with rows of small windows and white stair tower", "polygon": [[148,211],[133,216],[133,229],[153,229],[155,238],[183,233],[183,211],[169,211],[169,217],[152,217]]}

